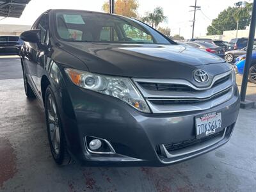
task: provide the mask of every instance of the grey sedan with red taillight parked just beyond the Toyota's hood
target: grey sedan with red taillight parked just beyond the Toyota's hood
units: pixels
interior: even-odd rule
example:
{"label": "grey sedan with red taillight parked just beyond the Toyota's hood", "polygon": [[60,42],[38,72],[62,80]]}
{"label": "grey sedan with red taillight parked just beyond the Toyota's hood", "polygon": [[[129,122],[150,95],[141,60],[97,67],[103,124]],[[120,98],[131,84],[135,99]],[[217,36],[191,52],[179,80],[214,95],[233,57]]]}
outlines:
{"label": "grey sedan with red taillight parked just beyond the Toyota's hood", "polygon": [[211,52],[213,54],[220,56],[221,58],[224,58],[224,56],[225,56],[225,51],[224,51],[223,47],[219,47],[214,44],[210,44],[207,42],[187,42],[186,44],[188,44],[192,47],[195,47],[197,49]]}

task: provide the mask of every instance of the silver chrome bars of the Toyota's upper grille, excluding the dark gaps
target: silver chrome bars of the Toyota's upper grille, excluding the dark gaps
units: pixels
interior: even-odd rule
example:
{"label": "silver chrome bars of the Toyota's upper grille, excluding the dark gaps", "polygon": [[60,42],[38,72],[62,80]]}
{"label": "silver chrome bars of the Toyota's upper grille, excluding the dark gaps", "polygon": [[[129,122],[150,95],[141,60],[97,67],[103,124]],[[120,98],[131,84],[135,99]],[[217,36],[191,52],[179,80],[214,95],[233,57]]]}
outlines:
{"label": "silver chrome bars of the Toyota's upper grille, excluding the dark gaps", "polygon": [[[213,86],[216,81],[219,79],[229,76],[227,81],[217,84]],[[176,112],[184,112],[184,111],[201,111],[205,109],[212,108],[221,104],[227,100],[229,100],[234,95],[234,84],[236,84],[236,79],[234,77],[233,70],[228,70],[228,72],[224,72],[223,74],[219,74],[217,76],[212,77],[212,81],[209,82],[209,86],[205,84],[204,88],[198,88],[194,84],[190,83],[184,79],[132,79],[134,84],[138,87],[143,97],[145,98],[148,106],[150,107],[152,113],[176,113]],[[159,91],[159,90],[148,90],[147,88],[143,88],[140,83],[164,83],[164,84],[182,84],[185,86],[189,86],[193,89],[190,92],[186,91]],[[218,96],[228,89],[229,92],[220,95],[220,97],[216,99],[212,99],[214,96]],[[152,100],[202,100],[204,102],[195,102],[191,104],[154,104]]]}

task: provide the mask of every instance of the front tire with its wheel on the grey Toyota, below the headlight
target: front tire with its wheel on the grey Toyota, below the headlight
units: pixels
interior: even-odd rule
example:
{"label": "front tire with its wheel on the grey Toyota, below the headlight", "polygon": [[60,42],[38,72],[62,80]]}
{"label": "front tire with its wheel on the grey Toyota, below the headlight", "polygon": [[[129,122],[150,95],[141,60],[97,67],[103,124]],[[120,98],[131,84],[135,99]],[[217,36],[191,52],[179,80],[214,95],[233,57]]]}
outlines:
{"label": "front tire with its wheel on the grey Toyota, below the headlight", "polygon": [[56,103],[51,85],[49,85],[45,92],[45,118],[48,140],[54,161],[64,166],[73,163],[73,160],[67,151],[67,142]]}

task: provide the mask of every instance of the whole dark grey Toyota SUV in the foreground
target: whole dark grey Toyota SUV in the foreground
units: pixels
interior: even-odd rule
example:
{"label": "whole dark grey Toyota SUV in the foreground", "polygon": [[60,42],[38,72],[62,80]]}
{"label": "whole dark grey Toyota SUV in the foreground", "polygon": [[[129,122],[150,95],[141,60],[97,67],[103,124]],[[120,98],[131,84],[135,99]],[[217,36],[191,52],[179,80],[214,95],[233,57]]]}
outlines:
{"label": "whole dark grey Toyota SUV in the foreground", "polygon": [[214,54],[79,10],[49,10],[21,37],[25,92],[45,109],[58,164],[164,166],[230,139],[239,93]]}

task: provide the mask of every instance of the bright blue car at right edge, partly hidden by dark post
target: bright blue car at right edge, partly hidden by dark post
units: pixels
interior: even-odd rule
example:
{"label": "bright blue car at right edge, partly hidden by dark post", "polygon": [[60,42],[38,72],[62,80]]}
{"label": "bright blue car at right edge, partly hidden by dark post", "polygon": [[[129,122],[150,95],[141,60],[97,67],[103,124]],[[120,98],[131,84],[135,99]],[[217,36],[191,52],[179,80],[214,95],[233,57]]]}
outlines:
{"label": "bright blue car at right edge, partly hidden by dark post", "polygon": [[[237,58],[235,67],[238,74],[244,73],[244,64],[245,64],[246,55],[243,54]],[[252,63],[249,70],[249,81],[256,83],[256,51],[252,53]]]}

